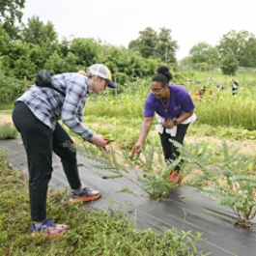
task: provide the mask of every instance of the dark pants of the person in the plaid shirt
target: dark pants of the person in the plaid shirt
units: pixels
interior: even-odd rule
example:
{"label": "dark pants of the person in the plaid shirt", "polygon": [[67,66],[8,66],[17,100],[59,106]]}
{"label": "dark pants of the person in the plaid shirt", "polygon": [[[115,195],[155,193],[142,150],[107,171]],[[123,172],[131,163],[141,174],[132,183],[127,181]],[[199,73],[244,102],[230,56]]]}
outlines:
{"label": "dark pants of the person in the plaid shirt", "polygon": [[27,153],[32,220],[43,221],[46,218],[47,188],[53,170],[52,151],[60,156],[71,188],[75,189],[81,185],[76,153],[62,146],[66,141],[73,142],[59,123],[54,131],[51,130],[21,101],[14,106],[13,121],[21,134]]}

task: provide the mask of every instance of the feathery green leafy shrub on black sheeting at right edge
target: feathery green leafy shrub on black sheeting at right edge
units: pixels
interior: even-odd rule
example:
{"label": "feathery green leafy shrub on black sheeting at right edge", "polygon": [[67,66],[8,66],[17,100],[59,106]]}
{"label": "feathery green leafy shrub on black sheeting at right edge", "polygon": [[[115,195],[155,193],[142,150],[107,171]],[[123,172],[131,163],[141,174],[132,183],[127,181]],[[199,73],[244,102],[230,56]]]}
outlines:
{"label": "feathery green leafy shrub on black sheeting at right edge", "polygon": [[[195,143],[187,148],[173,141],[179,148],[183,175],[191,174],[195,169],[201,171],[190,181],[192,185],[199,185],[199,189],[220,205],[234,211],[239,217],[238,225],[250,226],[249,220],[256,215],[256,179],[248,176],[248,169],[253,158],[239,154],[240,149],[232,151],[223,141],[218,155],[222,160],[215,160],[213,150],[206,143]],[[200,185],[208,183],[208,187]]]}

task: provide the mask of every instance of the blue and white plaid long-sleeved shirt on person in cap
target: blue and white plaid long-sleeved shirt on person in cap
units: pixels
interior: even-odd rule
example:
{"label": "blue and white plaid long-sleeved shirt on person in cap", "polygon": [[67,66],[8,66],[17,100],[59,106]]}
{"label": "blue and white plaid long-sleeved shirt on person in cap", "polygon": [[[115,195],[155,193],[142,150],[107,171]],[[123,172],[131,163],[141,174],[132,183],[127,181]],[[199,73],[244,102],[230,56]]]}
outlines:
{"label": "blue and white plaid long-sleeved shirt on person in cap", "polygon": [[83,139],[89,140],[93,131],[83,125],[83,111],[89,94],[89,79],[79,73],[62,73],[52,76],[52,85],[66,94],[53,89],[33,85],[20,98],[43,122],[54,130],[60,119]]}

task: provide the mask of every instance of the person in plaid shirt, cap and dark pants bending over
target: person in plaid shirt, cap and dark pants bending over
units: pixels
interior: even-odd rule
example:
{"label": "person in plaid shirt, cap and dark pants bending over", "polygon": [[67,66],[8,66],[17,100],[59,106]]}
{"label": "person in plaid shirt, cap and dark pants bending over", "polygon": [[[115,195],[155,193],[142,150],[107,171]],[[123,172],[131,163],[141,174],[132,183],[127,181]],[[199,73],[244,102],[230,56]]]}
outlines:
{"label": "person in plaid shirt, cap and dark pants bending over", "polygon": [[[46,72],[45,72],[46,73]],[[45,77],[44,73],[44,77]],[[79,203],[100,197],[99,190],[83,187],[77,169],[76,153],[63,147],[70,135],[58,123],[63,123],[84,140],[109,151],[106,141],[83,124],[83,112],[89,90],[100,94],[106,86],[117,88],[110,71],[102,64],[87,72],[69,72],[49,76],[53,88],[32,86],[15,102],[13,121],[21,134],[29,171],[30,211],[33,237],[54,238],[69,228],[46,218],[46,196],[52,174],[52,152],[61,158],[64,172],[71,185],[71,202]]]}

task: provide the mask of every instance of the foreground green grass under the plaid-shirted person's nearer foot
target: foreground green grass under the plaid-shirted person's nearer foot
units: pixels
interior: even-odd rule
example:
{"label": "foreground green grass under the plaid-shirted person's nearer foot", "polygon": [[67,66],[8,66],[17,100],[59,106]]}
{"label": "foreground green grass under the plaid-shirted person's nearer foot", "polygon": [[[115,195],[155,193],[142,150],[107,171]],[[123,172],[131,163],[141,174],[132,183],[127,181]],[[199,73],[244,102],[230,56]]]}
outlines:
{"label": "foreground green grass under the plaid-shirted person's nearer foot", "polygon": [[[70,229],[54,239],[33,239],[27,177],[12,170],[0,151],[0,255],[195,255],[201,234],[169,229],[140,231],[122,206],[108,212],[68,203],[66,190],[48,191],[47,213]],[[205,255],[205,254],[200,254]]]}

